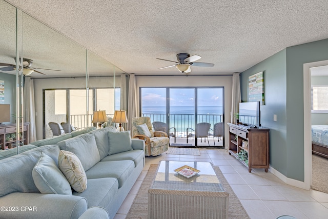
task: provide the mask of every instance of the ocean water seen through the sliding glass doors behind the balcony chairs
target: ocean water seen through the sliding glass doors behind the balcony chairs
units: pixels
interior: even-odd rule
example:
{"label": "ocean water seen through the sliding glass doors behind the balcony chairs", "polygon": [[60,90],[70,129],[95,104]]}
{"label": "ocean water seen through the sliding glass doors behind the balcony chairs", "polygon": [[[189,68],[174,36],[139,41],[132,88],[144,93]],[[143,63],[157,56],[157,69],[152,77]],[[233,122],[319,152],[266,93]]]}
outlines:
{"label": "ocean water seen through the sliding glass doors behind the balcony chairs", "polygon": [[[158,121],[166,123],[166,107],[164,106],[142,107],[141,114],[142,116],[149,116],[151,122]],[[195,130],[195,120],[195,107],[170,107],[169,127],[174,127],[176,129],[177,137],[186,137],[187,128]],[[211,129],[213,129],[215,123],[223,122],[222,106],[198,107],[197,123],[201,122],[210,123]],[[189,129],[189,132],[192,131],[191,129]]]}

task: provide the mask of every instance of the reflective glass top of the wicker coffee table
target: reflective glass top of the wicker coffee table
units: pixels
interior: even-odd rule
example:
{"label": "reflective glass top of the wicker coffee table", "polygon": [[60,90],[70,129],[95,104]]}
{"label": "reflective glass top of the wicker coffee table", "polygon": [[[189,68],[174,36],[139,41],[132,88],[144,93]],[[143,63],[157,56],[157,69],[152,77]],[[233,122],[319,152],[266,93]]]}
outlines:
{"label": "reflective glass top of the wicker coffee table", "polygon": [[[187,178],[174,171],[185,165],[200,172]],[[212,164],[209,162],[161,161],[151,188],[185,191],[224,191]]]}

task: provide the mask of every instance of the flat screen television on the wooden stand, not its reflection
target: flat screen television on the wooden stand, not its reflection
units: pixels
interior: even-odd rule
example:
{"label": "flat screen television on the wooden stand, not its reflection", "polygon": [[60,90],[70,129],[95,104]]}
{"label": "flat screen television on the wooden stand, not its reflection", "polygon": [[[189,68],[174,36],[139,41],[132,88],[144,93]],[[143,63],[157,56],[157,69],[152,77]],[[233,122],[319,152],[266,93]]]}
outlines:
{"label": "flat screen television on the wooden stand, not its reflection", "polygon": [[261,126],[260,118],[260,102],[239,103],[239,123],[259,127]]}

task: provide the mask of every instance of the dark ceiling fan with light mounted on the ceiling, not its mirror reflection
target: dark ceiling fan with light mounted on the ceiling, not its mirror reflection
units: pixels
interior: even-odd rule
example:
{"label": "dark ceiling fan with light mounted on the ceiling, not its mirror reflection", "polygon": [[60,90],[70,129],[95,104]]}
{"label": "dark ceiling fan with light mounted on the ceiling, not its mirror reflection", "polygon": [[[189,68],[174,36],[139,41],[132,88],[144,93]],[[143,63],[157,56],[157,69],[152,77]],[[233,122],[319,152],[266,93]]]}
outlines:
{"label": "dark ceiling fan with light mounted on the ceiling, not its mirror reflection", "polygon": [[167,59],[162,59],[162,58],[157,58],[160,60],[177,63],[175,65],[162,67],[159,69],[170,68],[170,67],[175,66],[180,72],[189,73],[189,72],[191,72],[190,66],[199,66],[199,67],[213,67],[214,66],[214,64],[212,64],[212,63],[198,63],[198,62],[195,63],[195,61],[197,61],[198,59],[201,58],[199,55],[190,56],[188,53],[179,53],[176,55],[176,58],[178,59],[178,62],[167,60]]}

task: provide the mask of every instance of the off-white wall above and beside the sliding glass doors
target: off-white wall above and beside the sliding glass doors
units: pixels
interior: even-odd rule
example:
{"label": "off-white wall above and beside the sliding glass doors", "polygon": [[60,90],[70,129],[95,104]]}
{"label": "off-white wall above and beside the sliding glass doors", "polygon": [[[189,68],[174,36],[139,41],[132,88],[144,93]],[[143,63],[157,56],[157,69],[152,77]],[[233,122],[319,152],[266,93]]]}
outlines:
{"label": "off-white wall above and beside the sliding glass doors", "polygon": [[230,122],[232,75],[227,76],[135,76],[139,106],[140,87],[223,87],[224,88],[224,136],[225,145],[228,147],[227,123]]}

